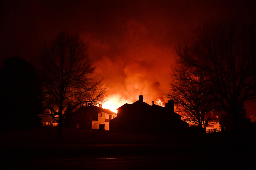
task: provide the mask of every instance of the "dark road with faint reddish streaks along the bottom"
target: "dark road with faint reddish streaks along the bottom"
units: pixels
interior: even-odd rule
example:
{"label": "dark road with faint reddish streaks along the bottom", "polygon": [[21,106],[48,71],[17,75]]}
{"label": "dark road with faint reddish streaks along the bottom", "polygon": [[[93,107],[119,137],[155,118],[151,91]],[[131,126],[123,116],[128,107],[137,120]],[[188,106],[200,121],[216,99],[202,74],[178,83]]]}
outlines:
{"label": "dark road with faint reddish streaks along the bottom", "polygon": [[2,146],[2,167],[25,169],[251,168],[247,147],[191,143]]}

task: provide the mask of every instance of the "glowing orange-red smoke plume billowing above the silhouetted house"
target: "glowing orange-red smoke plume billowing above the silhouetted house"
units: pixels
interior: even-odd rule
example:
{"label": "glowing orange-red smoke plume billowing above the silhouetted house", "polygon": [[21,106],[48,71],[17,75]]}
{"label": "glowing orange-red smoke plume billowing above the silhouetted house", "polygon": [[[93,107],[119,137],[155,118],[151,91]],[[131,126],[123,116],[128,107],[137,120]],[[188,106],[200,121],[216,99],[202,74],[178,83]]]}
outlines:
{"label": "glowing orange-red smoke plume billowing above the silhouetted house", "polygon": [[129,20],[111,41],[86,35],[91,40],[89,55],[96,58],[95,73],[108,84],[108,101],[112,100],[117,107],[133,103],[139,95],[143,95],[148,104],[152,101],[157,104],[158,100],[161,101],[158,105],[165,103],[175,49],[171,45],[163,46],[163,40],[152,38],[150,32],[150,28]]}

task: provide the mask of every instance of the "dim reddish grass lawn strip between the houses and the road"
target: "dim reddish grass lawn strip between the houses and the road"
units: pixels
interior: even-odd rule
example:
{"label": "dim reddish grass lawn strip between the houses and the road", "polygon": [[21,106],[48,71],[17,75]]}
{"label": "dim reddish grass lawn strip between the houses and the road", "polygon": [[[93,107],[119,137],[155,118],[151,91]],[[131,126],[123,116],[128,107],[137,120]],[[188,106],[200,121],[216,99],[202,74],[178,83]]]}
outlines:
{"label": "dim reddish grass lawn strip between the houses and the road", "polygon": [[[1,144],[126,144],[126,143],[184,143],[207,134],[129,134],[84,129],[62,129],[62,139],[56,140],[56,127],[6,131]],[[208,135],[208,136],[211,136]]]}

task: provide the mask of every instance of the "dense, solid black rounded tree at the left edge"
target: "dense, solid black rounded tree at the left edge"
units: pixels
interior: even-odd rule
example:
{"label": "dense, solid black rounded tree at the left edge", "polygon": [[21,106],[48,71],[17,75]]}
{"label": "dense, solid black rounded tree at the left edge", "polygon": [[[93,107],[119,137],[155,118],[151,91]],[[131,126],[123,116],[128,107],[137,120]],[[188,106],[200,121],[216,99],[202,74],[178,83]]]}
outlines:
{"label": "dense, solid black rounded tree at the left edge", "polygon": [[1,129],[38,126],[42,91],[35,67],[20,57],[7,58],[0,70],[0,81]]}

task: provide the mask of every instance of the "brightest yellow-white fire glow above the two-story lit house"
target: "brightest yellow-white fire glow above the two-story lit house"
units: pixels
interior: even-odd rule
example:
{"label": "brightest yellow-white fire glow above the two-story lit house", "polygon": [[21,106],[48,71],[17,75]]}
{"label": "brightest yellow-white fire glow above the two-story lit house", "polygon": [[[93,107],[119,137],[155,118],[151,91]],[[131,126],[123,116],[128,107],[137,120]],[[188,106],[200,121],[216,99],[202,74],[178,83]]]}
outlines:
{"label": "brightest yellow-white fire glow above the two-story lit house", "polygon": [[102,104],[102,108],[109,109],[112,112],[117,113],[117,108],[121,107],[125,103],[131,103],[128,100],[122,99],[119,95],[113,95],[109,97],[109,100],[107,102]]}

